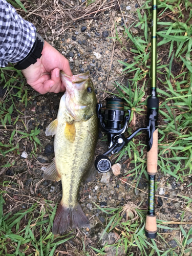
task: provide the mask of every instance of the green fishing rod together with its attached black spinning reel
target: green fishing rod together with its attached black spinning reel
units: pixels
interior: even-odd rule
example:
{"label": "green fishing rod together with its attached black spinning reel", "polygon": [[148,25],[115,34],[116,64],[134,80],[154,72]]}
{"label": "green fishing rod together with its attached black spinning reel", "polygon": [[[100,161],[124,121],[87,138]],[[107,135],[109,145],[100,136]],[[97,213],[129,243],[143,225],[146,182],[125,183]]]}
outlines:
{"label": "green fishing rod together with its attached black spinning reel", "polygon": [[[147,174],[148,174],[148,211],[146,216],[145,234],[147,238],[156,238],[157,223],[155,216],[155,176],[157,173],[158,155],[158,109],[159,100],[156,90],[157,79],[157,0],[152,0],[152,50],[151,50],[151,90],[147,99],[147,127],[138,128],[132,135],[125,138],[123,133],[127,130],[131,111],[124,117],[124,100],[118,97],[107,98],[106,106],[97,104],[97,116],[102,131],[108,134],[108,150],[98,155],[95,160],[95,167],[100,173],[109,172],[111,160],[109,154],[118,153],[125,147],[139,132],[147,131]],[[123,127],[121,123],[124,121]]]}

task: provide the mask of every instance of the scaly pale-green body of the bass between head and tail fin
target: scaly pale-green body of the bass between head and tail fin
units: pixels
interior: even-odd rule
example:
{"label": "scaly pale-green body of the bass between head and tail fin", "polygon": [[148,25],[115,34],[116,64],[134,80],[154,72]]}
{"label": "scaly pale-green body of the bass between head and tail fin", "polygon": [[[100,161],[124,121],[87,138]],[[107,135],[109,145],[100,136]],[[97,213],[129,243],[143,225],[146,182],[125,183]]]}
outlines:
{"label": "scaly pale-green body of the bass between head and tail fin", "polygon": [[[55,152],[56,166],[62,179],[62,204],[74,207],[77,204],[77,195],[80,182],[94,160],[94,150],[97,138],[97,116],[94,115],[86,122],[75,122],[76,137],[71,142],[63,138],[62,124],[57,126],[54,147],[62,150]],[[66,157],[68,156],[68,157]],[[69,184],[66,186],[66,184]]]}

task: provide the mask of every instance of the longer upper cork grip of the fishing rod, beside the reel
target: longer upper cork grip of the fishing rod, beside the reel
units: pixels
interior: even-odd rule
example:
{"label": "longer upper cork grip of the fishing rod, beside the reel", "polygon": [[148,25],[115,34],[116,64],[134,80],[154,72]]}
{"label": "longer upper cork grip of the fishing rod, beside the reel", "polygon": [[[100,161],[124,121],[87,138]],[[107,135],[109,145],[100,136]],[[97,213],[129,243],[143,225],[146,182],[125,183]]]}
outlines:
{"label": "longer upper cork grip of the fishing rod, beside the reel", "polygon": [[153,145],[147,152],[147,173],[148,175],[156,175],[157,173],[157,155],[158,155],[158,129],[153,133]]}

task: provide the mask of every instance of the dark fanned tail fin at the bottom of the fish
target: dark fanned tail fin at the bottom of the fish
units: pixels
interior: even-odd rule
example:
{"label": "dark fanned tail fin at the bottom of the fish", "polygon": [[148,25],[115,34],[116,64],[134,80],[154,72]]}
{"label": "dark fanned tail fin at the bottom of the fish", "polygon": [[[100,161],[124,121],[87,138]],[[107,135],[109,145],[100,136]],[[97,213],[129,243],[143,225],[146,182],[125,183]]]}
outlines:
{"label": "dark fanned tail fin at the bottom of the fish", "polygon": [[79,202],[73,208],[68,208],[60,202],[53,222],[53,233],[63,234],[68,228],[89,227],[89,221],[81,209]]}

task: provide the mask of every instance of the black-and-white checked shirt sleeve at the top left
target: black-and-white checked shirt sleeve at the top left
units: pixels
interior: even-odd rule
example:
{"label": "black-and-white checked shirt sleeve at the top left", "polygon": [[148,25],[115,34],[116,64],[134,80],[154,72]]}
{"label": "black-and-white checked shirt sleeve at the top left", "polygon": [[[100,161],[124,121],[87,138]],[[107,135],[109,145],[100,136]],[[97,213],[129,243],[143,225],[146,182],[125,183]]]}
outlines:
{"label": "black-and-white checked shirt sleeve at the top left", "polygon": [[0,67],[24,59],[34,45],[36,28],[0,0]]}

